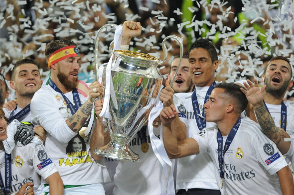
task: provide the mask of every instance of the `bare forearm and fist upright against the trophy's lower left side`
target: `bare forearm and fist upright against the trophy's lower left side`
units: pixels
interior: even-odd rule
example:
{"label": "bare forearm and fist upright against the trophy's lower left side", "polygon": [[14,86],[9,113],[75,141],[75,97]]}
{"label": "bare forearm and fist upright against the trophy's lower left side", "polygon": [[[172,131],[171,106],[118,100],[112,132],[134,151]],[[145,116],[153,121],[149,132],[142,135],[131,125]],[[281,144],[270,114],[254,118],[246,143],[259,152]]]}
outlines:
{"label": "bare forearm and fist upright against the trophy's lower left side", "polygon": [[102,122],[102,117],[99,116],[103,106],[103,100],[96,100],[95,101],[95,112],[97,115],[97,120],[95,124],[94,131],[91,135],[90,139],[90,149],[91,149],[91,156],[94,160],[100,160],[103,157],[99,156],[94,153],[96,148],[108,147],[108,143],[110,142],[109,131],[107,130],[104,132],[106,127]]}

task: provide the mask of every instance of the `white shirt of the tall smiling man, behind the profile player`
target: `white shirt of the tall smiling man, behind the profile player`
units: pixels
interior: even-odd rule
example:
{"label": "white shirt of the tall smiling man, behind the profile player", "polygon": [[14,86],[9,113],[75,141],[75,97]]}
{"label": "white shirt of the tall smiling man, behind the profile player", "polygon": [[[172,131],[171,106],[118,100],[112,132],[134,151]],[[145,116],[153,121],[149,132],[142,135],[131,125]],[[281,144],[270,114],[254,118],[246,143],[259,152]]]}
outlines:
{"label": "white shirt of the tall smiling man, behind the profile player", "polygon": [[[202,113],[204,98],[208,88],[196,87],[200,113]],[[187,137],[192,137],[200,132],[193,110],[192,93],[177,93],[173,96],[173,102],[177,111],[184,114],[182,116],[187,119]],[[215,123],[206,122],[206,125],[208,128],[214,127]],[[215,173],[212,159],[208,153],[179,158],[177,161],[176,190],[185,188],[219,190]]]}

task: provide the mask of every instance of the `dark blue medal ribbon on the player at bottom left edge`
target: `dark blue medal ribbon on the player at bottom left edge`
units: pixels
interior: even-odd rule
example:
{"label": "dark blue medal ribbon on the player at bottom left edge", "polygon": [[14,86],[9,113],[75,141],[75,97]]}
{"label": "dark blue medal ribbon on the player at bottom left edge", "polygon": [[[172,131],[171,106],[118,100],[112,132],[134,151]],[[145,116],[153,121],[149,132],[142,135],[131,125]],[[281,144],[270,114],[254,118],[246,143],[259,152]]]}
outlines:
{"label": "dark blue medal ribbon on the player at bottom left edge", "polygon": [[5,195],[8,195],[11,185],[11,155],[5,152],[5,184],[0,173],[0,187]]}

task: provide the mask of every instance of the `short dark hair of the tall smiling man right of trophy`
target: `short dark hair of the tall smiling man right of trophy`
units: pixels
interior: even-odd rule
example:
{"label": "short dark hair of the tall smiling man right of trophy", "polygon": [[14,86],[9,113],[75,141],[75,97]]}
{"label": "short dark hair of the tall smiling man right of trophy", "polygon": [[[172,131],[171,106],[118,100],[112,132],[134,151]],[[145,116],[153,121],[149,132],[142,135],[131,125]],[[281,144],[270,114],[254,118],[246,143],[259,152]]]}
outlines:
{"label": "short dark hair of the tall smiling man right of trophy", "polygon": [[189,49],[189,53],[188,55],[190,55],[190,52],[193,50],[193,49],[198,49],[198,48],[203,48],[205,50],[207,50],[210,58],[211,58],[211,62],[213,63],[214,61],[217,60],[217,52],[216,52],[216,49],[215,47],[212,45],[212,43],[206,39],[202,39],[202,38],[199,38],[197,39],[194,43],[192,43],[192,45],[190,46],[190,49]]}

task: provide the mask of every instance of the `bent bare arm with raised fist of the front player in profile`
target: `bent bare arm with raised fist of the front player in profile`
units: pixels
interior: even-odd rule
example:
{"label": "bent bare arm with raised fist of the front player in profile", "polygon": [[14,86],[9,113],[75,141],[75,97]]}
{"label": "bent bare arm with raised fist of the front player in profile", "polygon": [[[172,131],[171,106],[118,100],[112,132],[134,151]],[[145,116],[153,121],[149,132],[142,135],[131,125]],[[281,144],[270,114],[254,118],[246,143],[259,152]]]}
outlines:
{"label": "bent bare arm with raised fist of the front player in profile", "polygon": [[174,105],[164,107],[160,112],[160,120],[163,123],[163,144],[169,158],[181,158],[199,153],[199,145],[193,138],[178,141],[171,132],[171,121],[175,119],[177,112]]}

